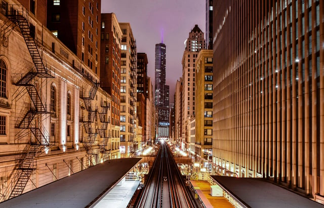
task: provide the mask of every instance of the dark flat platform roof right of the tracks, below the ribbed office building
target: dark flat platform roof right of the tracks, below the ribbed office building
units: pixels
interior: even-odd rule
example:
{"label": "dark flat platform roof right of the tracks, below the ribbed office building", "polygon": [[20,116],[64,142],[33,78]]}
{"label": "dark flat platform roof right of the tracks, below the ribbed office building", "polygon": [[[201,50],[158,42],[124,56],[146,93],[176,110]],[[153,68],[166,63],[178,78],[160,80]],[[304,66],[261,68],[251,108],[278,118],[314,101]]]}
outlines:
{"label": "dark flat platform roof right of the tracks, below the ribbed office building", "polygon": [[264,179],[212,176],[217,184],[247,207],[313,207],[324,205]]}

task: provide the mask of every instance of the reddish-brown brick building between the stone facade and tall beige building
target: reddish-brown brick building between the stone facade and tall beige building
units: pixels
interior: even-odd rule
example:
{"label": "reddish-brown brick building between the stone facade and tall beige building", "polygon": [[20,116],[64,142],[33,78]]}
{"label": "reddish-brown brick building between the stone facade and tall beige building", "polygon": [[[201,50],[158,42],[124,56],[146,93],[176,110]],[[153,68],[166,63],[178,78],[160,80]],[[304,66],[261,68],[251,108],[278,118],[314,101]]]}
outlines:
{"label": "reddish-brown brick building between the stone facade and tall beige building", "polygon": [[100,86],[111,95],[112,158],[119,153],[120,142],[120,58],[121,29],[114,13],[101,14]]}

